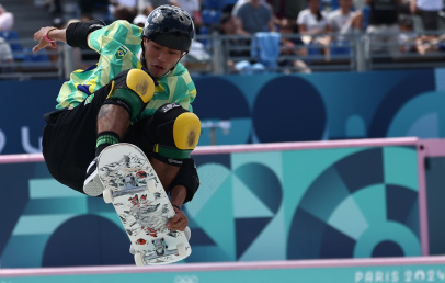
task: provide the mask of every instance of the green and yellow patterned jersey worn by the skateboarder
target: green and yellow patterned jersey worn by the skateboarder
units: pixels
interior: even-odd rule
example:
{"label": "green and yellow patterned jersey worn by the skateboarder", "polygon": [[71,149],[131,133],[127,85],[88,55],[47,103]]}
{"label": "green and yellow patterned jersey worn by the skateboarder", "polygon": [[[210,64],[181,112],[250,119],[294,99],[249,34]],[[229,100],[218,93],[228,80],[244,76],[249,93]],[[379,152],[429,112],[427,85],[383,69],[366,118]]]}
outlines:
{"label": "green and yellow patterned jersey worn by the skateboarder", "polygon": [[[109,83],[117,73],[129,68],[142,68],[139,61],[142,29],[127,21],[115,21],[90,34],[88,45],[100,54],[96,65],[71,72],[57,97],[57,109],[76,107],[89,95]],[[155,95],[142,112],[151,115],[164,103],[175,102],[189,111],[196,97],[195,84],[180,63],[158,80]],[[90,97],[91,98],[91,97]]]}

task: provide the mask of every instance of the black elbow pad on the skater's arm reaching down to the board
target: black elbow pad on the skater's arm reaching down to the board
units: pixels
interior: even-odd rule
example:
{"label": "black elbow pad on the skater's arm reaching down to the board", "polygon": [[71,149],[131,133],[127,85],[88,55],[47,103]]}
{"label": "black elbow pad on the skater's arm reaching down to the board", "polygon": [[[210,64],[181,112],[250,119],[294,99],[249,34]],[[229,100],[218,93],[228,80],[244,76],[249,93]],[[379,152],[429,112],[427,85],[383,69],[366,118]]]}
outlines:
{"label": "black elbow pad on the skater's arm reaching down to the board", "polygon": [[196,165],[192,158],[184,159],[176,178],[170,188],[183,185],[187,190],[187,196],[184,203],[192,201],[197,189],[199,188],[199,177],[197,176]]}

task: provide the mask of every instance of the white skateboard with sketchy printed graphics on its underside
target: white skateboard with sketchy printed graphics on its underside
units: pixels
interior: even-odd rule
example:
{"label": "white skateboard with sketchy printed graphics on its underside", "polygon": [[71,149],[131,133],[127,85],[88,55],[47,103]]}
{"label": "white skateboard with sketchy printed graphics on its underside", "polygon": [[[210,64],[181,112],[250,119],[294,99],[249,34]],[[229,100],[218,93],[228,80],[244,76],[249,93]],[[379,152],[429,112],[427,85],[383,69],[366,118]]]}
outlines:
{"label": "white skateboard with sketchy printed graphics on its underside", "polygon": [[112,203],[132,241],[136,265],[168,264],[192,253],[183,231],[169,230],[175,213],[145,154],[132,144],[106,147],[99,156],[103,199]]}

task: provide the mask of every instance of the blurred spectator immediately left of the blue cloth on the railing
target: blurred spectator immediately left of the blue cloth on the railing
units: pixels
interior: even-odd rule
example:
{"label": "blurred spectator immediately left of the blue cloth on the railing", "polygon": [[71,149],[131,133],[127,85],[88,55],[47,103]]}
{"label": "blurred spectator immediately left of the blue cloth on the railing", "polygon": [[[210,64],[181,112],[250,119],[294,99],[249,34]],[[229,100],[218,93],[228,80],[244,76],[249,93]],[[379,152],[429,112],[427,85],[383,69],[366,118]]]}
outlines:
{"label": "blurred spectator immediately left of the blue cloth on the railing", "polygon": [[[240,19],[232,16],[230,13],[222,14],[220,19],[220,34],[222,35],[233,35],[233,36],[248,36],[249,33],[244,32],[241,29]],[[235,64],[239,60],[250,57],[250,39],[249,37],[244,38],[229,38],[222,41],[225,48],[227,48],[228,58],[227,66],[229,70],[235,70]]]}

